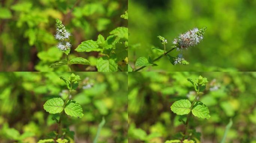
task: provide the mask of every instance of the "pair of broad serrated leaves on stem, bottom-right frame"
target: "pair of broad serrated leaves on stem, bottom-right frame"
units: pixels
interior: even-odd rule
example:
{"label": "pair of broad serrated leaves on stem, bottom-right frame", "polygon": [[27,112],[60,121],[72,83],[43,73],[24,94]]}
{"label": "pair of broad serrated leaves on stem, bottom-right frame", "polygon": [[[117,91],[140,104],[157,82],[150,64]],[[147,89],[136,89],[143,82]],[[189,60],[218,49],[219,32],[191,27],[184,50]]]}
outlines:
{"label": "pair of broad serrated leaves on stem, bottom-right frame", "polygon": [[196,102],[191,109],[191,102],[188,99],[181,99],[174,102],[171,105],[171,111],[177,115],[189,114],[192,111],[193,115],[203,119],[209,119],[211,117],[209,109],[202,102]]}

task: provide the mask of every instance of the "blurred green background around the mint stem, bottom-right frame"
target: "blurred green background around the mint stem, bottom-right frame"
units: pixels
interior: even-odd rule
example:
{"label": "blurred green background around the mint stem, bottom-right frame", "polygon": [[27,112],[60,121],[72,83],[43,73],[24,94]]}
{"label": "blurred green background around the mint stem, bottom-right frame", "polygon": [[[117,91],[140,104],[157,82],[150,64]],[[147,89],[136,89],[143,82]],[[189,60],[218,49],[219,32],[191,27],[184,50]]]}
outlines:
{"label": "blurred green background around the mint stem, bottom-right frame", "polygon": [[[186,116],[170,106],[179,99],[195,98],[187,78],[206,77],[209,83],[199,96],[211,118],[193,116],[189,129],[201,132],[201,143],[220,143],[225,127],[233,125],[225,143],[256,143],[256,72],[140,72],[128,75],[128,140],[131,143],[164,143],[175,139]],[[200,143],[200,142],[196,142]]]}

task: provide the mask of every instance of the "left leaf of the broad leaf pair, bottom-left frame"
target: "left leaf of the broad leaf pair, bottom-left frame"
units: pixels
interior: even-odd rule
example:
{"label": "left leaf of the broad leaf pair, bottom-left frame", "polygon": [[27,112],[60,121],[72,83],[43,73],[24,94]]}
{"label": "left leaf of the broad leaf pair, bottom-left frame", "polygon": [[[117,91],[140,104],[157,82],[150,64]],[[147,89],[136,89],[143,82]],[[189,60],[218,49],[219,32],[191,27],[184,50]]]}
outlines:
{"label": "left leaf of the broad leaf pair, bottom-left frame", "polygon": [[63,110],[64,101],[61,98],[52,98],[45,102],[43,108],[50,114],[60,113]]}

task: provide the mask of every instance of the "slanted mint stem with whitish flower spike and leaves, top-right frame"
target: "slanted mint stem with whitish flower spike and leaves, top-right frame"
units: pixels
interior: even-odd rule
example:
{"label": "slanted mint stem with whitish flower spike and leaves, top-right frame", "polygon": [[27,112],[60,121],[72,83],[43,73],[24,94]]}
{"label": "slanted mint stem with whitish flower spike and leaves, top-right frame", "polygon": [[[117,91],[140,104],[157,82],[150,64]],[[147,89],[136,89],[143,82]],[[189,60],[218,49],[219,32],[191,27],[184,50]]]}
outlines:
{"label": "slanted mint stem with whitish flower spike and leaves, top-right frame", "polygon": [[[197,45],[200,41],[202,41],[202,39],[204,38],[203,35],[205,31],[206,31],[206,27],[202,29],[193,28],[192,30],[187,31],[184,34],[180,34],[178,38],[175,38],[173,40],[174,46],[171,46],[170,47],[171,49],[166,48],[166,45],[168,43],[167,39],[159,35],[158,38],[160,39],[161,43],[164,45],[164,50],[160,48],[155,48],[155,47],[152,48],[152,50],[158,50],[162,53],[162,55],[160,55],[155,59],[151,59],[150,57],[148,59],[146,57],[139,57],[135,62],[135,66],[138,66],[140,68],[135,69],[134,71],[140,71],[141,69],[144,69],[147,66],[157,66],[155,62],[160,60],[164,56],[166,56],[173,65],[177,65],[177,64],[188,65],[189,62],[186,61],[185,58],[183,58],[182,53],[183,51]],[[177,52],[179,53],[176,57],[173,57],[169,54],[174,49],[176,49]],[[129,71],[132,71],[132,69],[130,68]]]}

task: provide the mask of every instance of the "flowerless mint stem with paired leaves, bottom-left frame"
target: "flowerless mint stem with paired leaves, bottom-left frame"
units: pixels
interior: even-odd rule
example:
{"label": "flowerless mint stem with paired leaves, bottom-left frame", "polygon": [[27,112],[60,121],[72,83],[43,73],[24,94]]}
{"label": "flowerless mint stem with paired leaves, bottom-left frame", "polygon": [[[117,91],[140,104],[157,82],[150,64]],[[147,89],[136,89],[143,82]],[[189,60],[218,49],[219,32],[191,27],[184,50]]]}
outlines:
{"label": "flowerless mint stem with paired leaves, bottom-left frame", "polygon": [[57,131],[55,132],[55,139],[46,139],[46,140],[40,140],[39,143],[46,143],[46,142],[55,142],[55,143],[67,143],[67,139],[61,139],[62,136],[60,136],[60,127],[61,127],[61,121],[63,120],[64,112],[65,114],[74,117],[74,118],[82,118],[83,117],[83,109],[80,104],[76,103],[74,100],[70,100],[71,92],[75,91],[78,87],[78,81],[80,80],[80,77],[75,74],[71,74],[68,78],[66,77],[60,77],[61,80],[63,80],[68,89],[68,96],[63,101],[61,98],[52,98],[45,102],[43,105],[43,108],[46,110],[46,112],[49,112],[50,114],[60,114],[60,119],[57,120],[54,118],[54,120],[58,123]]}

